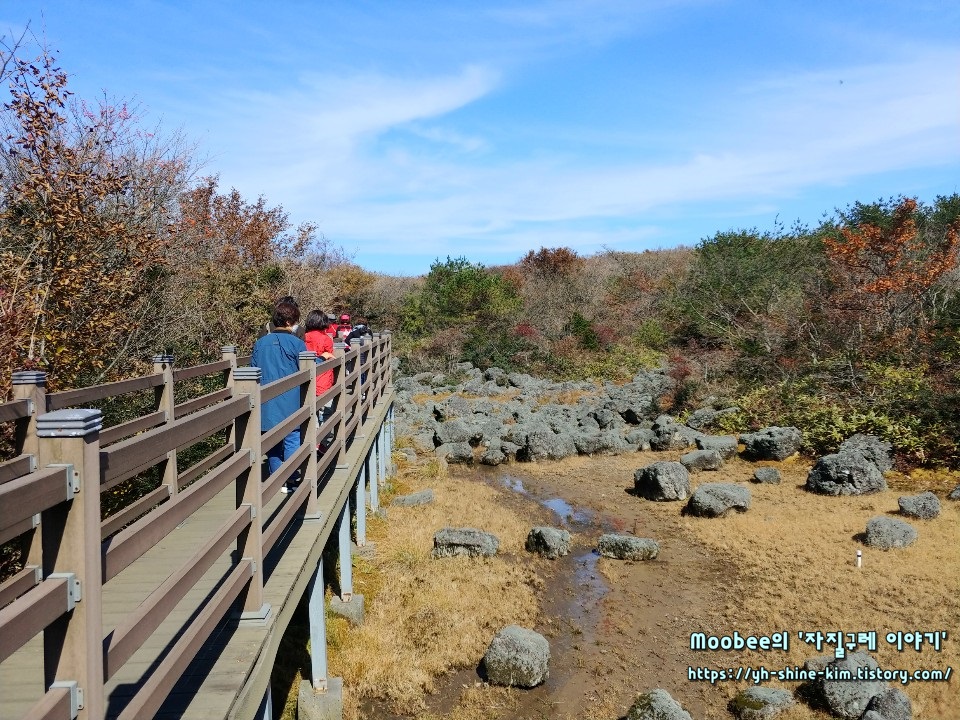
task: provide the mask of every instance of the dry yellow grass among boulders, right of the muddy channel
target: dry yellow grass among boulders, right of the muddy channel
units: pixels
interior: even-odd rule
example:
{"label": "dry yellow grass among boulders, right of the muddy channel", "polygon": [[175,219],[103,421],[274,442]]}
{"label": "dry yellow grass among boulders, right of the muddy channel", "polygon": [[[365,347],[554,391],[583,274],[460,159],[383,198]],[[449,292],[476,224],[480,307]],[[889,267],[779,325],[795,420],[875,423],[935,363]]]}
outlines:
{"label": "dry yellow grass among boulders, right of the muddy channel", "polygon": [[[780,469],[780,485],[750,483],[756,464],[728,462],[716,473],[692,476],[696,488],[706,482],[748,483],[752,507],[744,514],[722,519],[686,517],[681,503],[655,503],[624,495],[632,486],[633,470],[657,460],[677,459],[681,453],[637,453],[609,458],[575,457],[558,463],[523,466],[525,476],[540,477],[565,488],[568,498],[581,489],[581,503],[589,503],[628,524],[643,527],[644,518],[656,516],[681,537],[712,550],[717,562],[730,572],[724,577],[726,597],[732,601],[713,607],[702,627],[708,634],[763,634],[786,630],[790,649],[781,651],[706,652],[704,666],[766,666],[771,669],[800,665],[808,658],[826,655],[797,638],[799,631],[857,632],[875,630],[877,651],[871,653],[887,669],[953,668],[950,682],[911,682],[900,686],[913,702],[914,716],[929,720],[960,718],[957,672],[960,671],[960,503],[944,501],[957,485],[956,473],[915,471],[888,475],[890,489],[860,497],[825,497],[803,489],[810,461],[794,457],[781,463],[762,463]],[[930,489],[941,497],[939,518],[907,519],[919,532],[909,548],[882,551],[863,545],[857,537],[876,515],[898,515],[897,498]],[[856,551],[863,552],[863,567],[855,567]],[[601,563],[611,582],[617,575]],[[676,608],[682,613],[682,608]],[[949,639],[935,652],[924,646],[898,652],[885,642],[890,631],[946,630]],[[796,683],[768,683],[795,690]],[[711,713],[727,717],[728,698],[746,684],[703,686]],[[714,715],[711,714],[711,717]],[[784,720],[822,719],[826,714],[798,704],[779,715]]]}

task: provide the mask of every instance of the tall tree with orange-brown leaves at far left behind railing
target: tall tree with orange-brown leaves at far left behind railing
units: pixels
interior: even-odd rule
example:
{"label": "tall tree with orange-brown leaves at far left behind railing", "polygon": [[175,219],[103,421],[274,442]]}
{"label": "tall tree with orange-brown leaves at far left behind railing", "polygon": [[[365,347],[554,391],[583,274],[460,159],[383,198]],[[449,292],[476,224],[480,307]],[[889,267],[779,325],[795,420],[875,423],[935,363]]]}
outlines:
{"label": "tall tree with orange-brown leaves at far left behind railing", "polygon": [[0,373],[43,369],[68,387],[107,374],[142,320],[186,161],[140,134],[125,105],[72,102],[50,55],[14,58],[10,91],[0,288],[16,352]]}

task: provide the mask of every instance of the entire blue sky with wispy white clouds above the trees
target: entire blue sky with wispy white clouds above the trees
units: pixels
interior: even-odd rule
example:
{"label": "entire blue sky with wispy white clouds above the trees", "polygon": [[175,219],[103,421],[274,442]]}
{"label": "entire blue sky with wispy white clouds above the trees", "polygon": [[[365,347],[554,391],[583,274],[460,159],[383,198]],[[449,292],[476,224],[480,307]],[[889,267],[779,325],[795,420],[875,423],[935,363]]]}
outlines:
{"label": "entire blue sky with wispy white clouds above the trees", "polygon": [[417,275],[960,192],[960,4],[0,0],[79,96]]}

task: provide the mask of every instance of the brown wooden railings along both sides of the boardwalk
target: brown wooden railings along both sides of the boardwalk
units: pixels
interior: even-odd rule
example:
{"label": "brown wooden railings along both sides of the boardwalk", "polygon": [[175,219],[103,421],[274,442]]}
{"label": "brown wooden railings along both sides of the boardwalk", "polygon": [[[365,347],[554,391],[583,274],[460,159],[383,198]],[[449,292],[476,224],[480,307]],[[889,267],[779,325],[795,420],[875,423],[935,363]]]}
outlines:
{"label": "brown wooden railings along both sides of the boardwalk", "polygon": [[[25,562],[0,584],[0,662],[42,633],[46,688],[24,717],[105,717],[107,705],[116,704],[105,685],[225,556],[229,568],[215,591],[193,608],[169,651],[110,716],[153,716],[231,608],[241,619],[265,617],[265,556],[295,518],[317,516],[324,484],[358,428],[371,409],[392,398],[388,333],[363,346],[339,346],[335,354],[318,363],[313,353],[302,353],[299,372],[264,386],[258,368],[238,367],[249,358],[238,358],[233,347],[197,367],[175,369],[173,358],[156,356],[154,372],[145,377],[56,393],[45,392],[43,373],[15,373],[15,399],[0,404],[0,422],[16,426],[17,453],[0,463],[0,543],[19,539]],[[317,397],[317,374],[328,370],[333,387]],[[206,380],[200,394],[178,401],[178,390],[199,378]],[[297,411],[261,434],[261,404],[294,388],[300,391]],[[144,391],[153,391],[152,408],[112,427],[103,427],[98,409],[71,409]],[[327,402],[333,411],[321,424],[317,411]],[[299,449],[266,476],[263,453],[296,428]],[[321,440],[325,451],[318,457]],[[204,441],[201,456],[179,469],[178,457],[198,454]],[[148,471],[155,487],[101,518],[101,496]],[[303,482],[281,498],[280,489],[297,472]],[[231,486],[235,509],[205,543],[179,569],[156,578],[133,612],[103,627],[110,583]],[[338,490],[337,497],[342,506],[349,493]]]}

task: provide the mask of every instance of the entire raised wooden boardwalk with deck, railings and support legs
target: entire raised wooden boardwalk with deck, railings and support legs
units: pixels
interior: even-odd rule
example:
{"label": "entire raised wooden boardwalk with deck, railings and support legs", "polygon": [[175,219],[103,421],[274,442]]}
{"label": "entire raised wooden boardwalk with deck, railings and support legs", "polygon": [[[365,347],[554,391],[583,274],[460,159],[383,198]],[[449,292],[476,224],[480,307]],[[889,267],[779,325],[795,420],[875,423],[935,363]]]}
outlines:
{"label": "entire raised wooden boardwalk with deck, railings and support legs", "polygon": [[[43,373],[15,373],[16,397],[0,404],[17,432],[17,455],[0,462],[0,542],[28,539],[29,554],[0,583],[0,720],[270,717],[280,641],[330,536],[349,555],[368,488],[376,509],[390,350],[384,333],[319,363],[304,352],[297,373],[263,386],[232,346],[205,365],[156,356],[151,375],[52,394]],[[336,377],[321,396],[318,371]],[[178,383],[211,375],[220,389],[178,402]],[[261,434],[262,404],[295,390],[298,409]],[[152,411],[102,428],[89,405],[132,392],[152,393]],[[300,447],[263,478],[264,451],[297,428]],[[222,430],[225,444],[178,467],[178,452]],[[101,519],[102,496],[153,467],[160,485]],[[294,472],[303,482],[280,492]],[[349,562],[340,580],[347,599]],[[319,688],[324,658],[312,660]]]}

